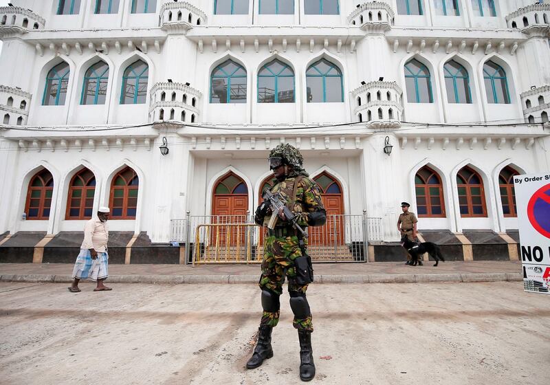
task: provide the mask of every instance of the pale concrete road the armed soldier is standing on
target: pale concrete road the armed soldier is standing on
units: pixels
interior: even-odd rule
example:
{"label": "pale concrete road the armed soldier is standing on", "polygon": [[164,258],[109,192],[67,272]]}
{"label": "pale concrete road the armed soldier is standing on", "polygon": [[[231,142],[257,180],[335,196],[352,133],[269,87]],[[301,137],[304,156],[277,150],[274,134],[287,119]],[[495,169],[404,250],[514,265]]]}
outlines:
{"label": "pale concrete road the armed soldier is standing on", "polygon": [[[255,285],[0,283],[1,384],[299,384],[288,296],[244,365]],[[316,384],[547,384],[550,296],[520,282],[311,285]]]}

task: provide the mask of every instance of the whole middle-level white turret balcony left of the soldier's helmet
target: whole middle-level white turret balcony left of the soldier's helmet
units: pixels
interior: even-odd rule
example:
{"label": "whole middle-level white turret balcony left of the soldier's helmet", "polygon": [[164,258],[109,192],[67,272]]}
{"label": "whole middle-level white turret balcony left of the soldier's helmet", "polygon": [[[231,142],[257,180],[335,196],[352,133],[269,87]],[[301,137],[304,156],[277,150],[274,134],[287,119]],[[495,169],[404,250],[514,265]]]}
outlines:
{"label": "whole middle-level white turret balcony left of the soldier's helmet", "polygon": [[197,123],[201,96],[198,89],[182,83],[156,83],[151,88],[149,122],[177,120]]}

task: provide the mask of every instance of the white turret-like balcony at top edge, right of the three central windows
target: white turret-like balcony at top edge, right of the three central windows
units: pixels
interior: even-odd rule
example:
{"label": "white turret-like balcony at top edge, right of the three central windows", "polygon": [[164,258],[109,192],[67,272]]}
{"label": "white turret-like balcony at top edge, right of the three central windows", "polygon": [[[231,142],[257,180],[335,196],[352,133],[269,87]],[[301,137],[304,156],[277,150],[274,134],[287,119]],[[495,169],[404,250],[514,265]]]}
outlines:
{"label": "white turret-like balcony at top edge, right of the three central windows", "polygon": [[384,2],[372,1],[358,5],[349,15],[350,25],[358,25],[369,33],[384,33],[391,30],[394,13],[391,6]]}

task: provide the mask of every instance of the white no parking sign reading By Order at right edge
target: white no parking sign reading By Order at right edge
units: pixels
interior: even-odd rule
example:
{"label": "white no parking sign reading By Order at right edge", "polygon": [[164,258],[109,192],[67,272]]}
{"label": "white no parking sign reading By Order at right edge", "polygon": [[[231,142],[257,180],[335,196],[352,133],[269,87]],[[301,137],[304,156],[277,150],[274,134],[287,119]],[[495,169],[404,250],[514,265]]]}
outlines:
{"label": "white no parking sign reading By Order at right edge", "polygon": [[516,175],[523,287],[550,294],[550,174]]}

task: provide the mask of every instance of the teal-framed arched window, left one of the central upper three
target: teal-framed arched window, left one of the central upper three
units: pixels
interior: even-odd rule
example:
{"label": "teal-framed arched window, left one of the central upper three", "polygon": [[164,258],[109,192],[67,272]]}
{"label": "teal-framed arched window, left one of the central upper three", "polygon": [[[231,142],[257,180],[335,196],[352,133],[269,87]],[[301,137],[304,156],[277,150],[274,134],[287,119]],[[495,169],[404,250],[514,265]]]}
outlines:
{"label": "teal-framed arched window, left one of the central upper three", "polygon": [[210,103],[245,103],[246,70],[232,60],[214,68],[210,76]]}

